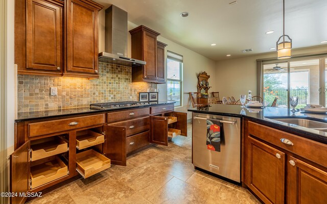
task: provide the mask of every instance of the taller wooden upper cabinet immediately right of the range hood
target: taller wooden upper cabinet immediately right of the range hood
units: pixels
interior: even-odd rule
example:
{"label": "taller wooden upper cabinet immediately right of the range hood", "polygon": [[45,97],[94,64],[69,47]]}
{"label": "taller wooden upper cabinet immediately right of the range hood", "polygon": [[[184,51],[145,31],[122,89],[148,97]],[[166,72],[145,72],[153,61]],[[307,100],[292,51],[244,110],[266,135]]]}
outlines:
{"label": "taller wooden upper cabinet immediately right of the range hood", "polygon": [[132,68],[132,82],[158,82],[157,80],[157,36],[159,33],[140,25],[130,30],[131,55],[146,65]]}

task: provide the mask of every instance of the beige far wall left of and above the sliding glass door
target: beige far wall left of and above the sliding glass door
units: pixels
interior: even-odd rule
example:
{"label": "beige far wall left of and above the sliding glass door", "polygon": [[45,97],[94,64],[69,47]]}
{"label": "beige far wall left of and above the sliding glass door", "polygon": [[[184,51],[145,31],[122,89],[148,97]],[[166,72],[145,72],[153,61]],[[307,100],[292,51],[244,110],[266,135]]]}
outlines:
{"label": "beige far wall left of and above the sliding glass door", "polygon": [[[304,55],[318,52],[327,52],[327,46],[293,49],[292,55]],[[256,60],[276,58],[277,53],[256,55],[238,59],[221,60],[216,63],[215,78],[220,99],[223,96],[248,94],[248,90],[256,93]],[[253,95],[253,94],[252,94]]]}

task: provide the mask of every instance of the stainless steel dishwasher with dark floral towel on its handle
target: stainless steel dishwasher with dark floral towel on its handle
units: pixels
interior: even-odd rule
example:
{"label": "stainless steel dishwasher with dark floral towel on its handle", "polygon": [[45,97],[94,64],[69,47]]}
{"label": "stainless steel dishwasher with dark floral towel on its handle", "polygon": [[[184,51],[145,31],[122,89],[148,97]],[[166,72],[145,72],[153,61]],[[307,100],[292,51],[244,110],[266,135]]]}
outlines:
{"label": "stainless steel dishwasher with dark floral towel on its handle", "polygon": [[[220,152],[207,149],[206,119],[223,123]],[[241,119],[193,113],[193,164],[238,183],[241,182]]]}

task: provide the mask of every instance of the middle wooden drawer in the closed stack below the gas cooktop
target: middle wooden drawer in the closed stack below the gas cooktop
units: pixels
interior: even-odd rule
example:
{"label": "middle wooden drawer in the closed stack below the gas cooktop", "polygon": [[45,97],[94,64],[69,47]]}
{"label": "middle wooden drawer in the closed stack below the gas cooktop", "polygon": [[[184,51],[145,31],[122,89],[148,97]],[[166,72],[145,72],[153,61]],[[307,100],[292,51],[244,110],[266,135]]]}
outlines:
{"label": "middle wooden drawer in the closed stack below the gas cooktop", "polygon": [[124,122],[115,122],[110,125],[126,127],[126,137],[150,130],[150,117],[137,118]]}

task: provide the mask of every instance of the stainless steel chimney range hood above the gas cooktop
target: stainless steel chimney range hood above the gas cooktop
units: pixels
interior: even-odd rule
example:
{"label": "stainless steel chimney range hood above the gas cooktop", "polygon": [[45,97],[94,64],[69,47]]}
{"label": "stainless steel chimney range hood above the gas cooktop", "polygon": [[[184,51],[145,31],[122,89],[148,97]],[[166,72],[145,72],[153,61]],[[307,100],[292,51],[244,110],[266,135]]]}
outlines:
{"label": "stainless steel chimney range hood above the gas cooktop", "polygon": [[99,53],[99,62],[124,66],[145,65],[142,60],[127,57],[127,12],[111,5],[105,14],[105,52]]}

